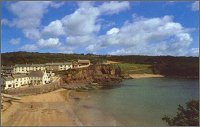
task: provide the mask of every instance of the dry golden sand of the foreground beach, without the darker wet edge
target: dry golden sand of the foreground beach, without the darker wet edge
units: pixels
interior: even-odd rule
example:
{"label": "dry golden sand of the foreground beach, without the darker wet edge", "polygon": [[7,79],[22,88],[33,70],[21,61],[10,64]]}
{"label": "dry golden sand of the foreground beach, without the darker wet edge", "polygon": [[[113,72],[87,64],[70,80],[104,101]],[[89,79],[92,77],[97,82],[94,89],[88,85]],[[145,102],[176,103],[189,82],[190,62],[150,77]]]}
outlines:
{"label": "dry golden sand of the foreground beach, without the darker wet edge", "polygon": [[1,112],[3,126],[82,125],[63,93],[65,89],[22,97]]}

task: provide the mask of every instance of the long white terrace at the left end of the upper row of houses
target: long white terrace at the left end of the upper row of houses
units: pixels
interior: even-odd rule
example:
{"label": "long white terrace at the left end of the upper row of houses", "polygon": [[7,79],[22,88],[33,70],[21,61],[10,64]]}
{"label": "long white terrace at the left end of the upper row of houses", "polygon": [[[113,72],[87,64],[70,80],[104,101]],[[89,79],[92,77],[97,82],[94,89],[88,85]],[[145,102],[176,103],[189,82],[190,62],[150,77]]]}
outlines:
{"label": "long white terrace at the left end of the upper row of houses", "polygon": [[44,71],[45,64],[16,64],[13,67],[14,73],[29,73],[30,71],[41,70]]}

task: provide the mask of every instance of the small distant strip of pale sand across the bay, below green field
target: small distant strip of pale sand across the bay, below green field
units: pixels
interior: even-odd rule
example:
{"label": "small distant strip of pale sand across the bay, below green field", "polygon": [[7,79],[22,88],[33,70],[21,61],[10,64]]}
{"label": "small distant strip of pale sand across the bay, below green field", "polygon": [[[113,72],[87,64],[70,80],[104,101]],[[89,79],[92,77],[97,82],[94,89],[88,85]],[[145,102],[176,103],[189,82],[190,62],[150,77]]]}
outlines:
{"label": "small distant strip of pale sand across the bay, below green field", "polygon": [[161,78],[164,77],[163,75],[159,74],[129,74],[131,78]]}

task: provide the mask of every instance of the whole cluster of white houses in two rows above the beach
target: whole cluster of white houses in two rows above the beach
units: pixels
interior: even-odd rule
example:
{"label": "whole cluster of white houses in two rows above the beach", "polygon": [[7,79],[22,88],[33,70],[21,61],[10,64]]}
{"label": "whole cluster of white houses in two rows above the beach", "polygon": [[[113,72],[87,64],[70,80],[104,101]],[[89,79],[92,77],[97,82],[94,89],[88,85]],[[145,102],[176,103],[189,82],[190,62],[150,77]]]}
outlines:
{"label": "whole cluster of white houses in two rows above the beach", "polygon": [[[77,62],[46,63],[46,64],[16,64],[12,67],[2,67],[1,84],[4,89],[18,88],[28,85],[47,84],[54,71],[90,66],[89,60]],[[47,73],[46,71],[50,72]]]}

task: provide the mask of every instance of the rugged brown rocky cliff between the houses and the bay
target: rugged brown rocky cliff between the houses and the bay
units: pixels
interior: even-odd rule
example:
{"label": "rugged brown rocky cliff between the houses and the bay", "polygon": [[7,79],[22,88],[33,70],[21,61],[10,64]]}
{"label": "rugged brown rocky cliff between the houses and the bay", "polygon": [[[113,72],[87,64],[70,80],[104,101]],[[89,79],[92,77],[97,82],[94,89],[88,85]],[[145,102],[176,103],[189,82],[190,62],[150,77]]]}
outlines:
{"label": "rugged brown rocky cliff between the houses and the bay", "polygon": [[91,65],[88,68],[71,69],[62,75],[64,83],[112,84],[122,80],[121,69],[117,65]]}

